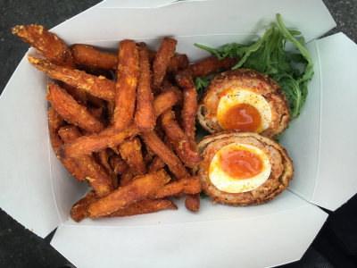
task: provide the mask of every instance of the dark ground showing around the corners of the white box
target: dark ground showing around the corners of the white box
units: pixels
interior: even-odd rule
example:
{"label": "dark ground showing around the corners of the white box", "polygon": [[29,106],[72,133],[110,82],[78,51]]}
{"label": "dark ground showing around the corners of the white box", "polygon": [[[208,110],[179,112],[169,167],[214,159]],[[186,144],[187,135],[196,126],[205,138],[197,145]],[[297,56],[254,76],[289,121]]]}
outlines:
{"label": "dark ground showing around the corners of the white box", "polygon": [[[38,23],[50,29],[99,2],[1,0],[0,92],[29,48],[12,36],[12,26]],[[324,0],[324,3],[337,23],[327,35],[342,31],[357,42],[357,0]],[[329,214],[328,222],[303,259],[284,267],[357,267],[357,196]],[[53,234],[40,239],[0,209],[0,267],[71,267],[71,263],[49,245]]]}

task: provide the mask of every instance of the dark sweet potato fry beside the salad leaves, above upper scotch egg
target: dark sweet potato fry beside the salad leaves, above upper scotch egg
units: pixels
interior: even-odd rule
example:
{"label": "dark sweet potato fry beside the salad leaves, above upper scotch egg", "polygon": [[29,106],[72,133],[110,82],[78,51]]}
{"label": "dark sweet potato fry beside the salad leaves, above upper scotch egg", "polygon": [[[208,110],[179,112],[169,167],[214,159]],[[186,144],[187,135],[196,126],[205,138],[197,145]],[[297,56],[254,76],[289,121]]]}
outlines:
{"label": "dark sweet potato fry beside the salad leaves, above upper scotch egg", "polygon": [[231,58],[225,58],[219,60],[217,58],[209,58],[199,63],[189,65],[189,71],[191,71],[192,78],[205,77],[218,70],[229,70],[237,64],[237,60]]}

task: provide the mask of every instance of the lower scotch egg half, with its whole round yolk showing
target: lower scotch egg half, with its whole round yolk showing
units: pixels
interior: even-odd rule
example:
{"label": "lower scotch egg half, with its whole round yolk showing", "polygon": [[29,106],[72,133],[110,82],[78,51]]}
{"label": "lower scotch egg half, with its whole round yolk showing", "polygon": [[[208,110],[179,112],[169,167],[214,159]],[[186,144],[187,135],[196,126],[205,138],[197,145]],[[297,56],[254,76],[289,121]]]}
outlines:
{"label": "lower scotch egg half, with its whole round yolk showing", "polygon": [[255,132],[227,131],[197,145],[203,191],[213,203],[259,205],[277,197],[294,177],[293,163],[275,140]]}

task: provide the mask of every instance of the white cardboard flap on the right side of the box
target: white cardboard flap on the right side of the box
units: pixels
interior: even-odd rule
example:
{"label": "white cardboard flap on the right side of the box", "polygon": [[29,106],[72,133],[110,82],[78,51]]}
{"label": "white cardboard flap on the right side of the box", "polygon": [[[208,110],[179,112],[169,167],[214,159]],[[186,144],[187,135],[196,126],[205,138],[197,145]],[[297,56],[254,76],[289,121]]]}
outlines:
{"label": "white cardboard flap on the right side of the box", "polygon": [[357,194],[357,45],[343,33],[318,40],[320,164],[312,202],[336,210]]}

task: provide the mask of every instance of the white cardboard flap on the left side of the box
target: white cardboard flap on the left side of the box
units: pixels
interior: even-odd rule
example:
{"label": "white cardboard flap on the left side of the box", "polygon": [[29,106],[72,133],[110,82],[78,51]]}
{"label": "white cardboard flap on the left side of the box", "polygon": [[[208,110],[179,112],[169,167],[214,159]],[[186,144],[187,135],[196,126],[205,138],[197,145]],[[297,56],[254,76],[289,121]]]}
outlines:
{"label": "white cardboard flap on the left side of the box", "polygon": [[48,158],[46,80],[24,58],[0,97],[0,205],[42,238],[60,223]]}

